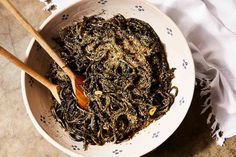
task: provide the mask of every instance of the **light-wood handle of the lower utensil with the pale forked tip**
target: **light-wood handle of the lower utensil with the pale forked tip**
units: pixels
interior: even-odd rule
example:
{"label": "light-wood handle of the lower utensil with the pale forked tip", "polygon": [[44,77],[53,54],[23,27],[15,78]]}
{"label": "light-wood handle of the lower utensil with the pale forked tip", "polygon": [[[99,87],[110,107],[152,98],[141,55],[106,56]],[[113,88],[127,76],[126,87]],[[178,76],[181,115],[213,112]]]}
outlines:
{"label": "light-wood handle of the lower utensil with the pale forked tip", "polygon": [[22,61],[20,61],[18,58],[13,56],[11,53],[9,53],[7,50],[2,48],[1,46],[0,46],[0,55],[6,58],[7,60],[9,60],[11,63],[15,64],[17,67],[19,67],[23,71],[25,71],[27,74],[32,76],[37,81],[42,83],[48,89],[52,89],[56,86],[53,83],[51,83],[48,79],[46,79],[45,77],[43,77],[42,75],[40,75],[39,73],[31,69],[30,67],[28,67],[26,64],[24,64]]}

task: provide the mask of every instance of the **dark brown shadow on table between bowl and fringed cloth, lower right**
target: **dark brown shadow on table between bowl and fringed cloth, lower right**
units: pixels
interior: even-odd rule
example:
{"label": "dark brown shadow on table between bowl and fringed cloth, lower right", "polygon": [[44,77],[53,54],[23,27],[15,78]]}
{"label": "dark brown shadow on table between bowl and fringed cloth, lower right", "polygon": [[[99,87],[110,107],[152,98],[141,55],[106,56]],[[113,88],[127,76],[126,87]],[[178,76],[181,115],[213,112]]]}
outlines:
{"label": "dark brown shadow on table between bowl and fringed cloth, lower right", "polygon": [[200,89],[196,87],[190,109],[174,134],[161,146],[143,157],[191,157],[206,149],[213,142],[207,114],[200,115],[202,102]]}

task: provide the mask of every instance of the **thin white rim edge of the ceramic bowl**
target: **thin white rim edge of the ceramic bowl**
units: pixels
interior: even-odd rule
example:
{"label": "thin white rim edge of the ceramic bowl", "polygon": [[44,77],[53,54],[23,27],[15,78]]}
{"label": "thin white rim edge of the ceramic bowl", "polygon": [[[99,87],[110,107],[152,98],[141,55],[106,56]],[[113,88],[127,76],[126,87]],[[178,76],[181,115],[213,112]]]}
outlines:
{"label": "thin white rim edge of the ceramic bowl", "polygon": [[[64,11],[67,10],[68,8],[70,8],[70,7],[74,6],[74,5],[76,5],[77,3],[80,3],[81,1],[83,1],[83,0],[78,0],[78,1],[72,2],[70,5],[66,6],[65,8],[63,8],[63,9],[61,9],[61,10],[56,10],[56,11],[54,11],[50,16],[48,16],[48,17],[43,21],[43,23],[40,25],[40,27],[39,27],[39,29],[38,29],[38,32],[40,32],[54,17],[56,17],[56,16],[59,15],[60,13],[64,12]],[[166,20],[168,20],[168,22],[170,22],[170,23],[171,23],[172,25],[174,25],[178,30],[180,30],[179,27],[175,24],[175,22],[173,22],[173,20],[172,20],[169,16],[167,16],[165,13],[163,13],[161,10],[159,10],[158,7],[154,6],[153,4],[151,4],[150,2],[147,2],[147,1],[145,1],[145,0],[138,0],[138,1],[140,1],[141,3],[145,3],[146,5],[148,5],[149,7],[151,7],[152,9],[156,10],[156,11],[157,11],[158,13],[160,13]],[[186,38],[184,37],[184,35],[183,35],[183,33],[182,33],[181,31],[179,31],[179,32],[180,32],[180,35],[182,35],[183,38],[184,38],[184,41],[185,41],[185,43],[186,43],[186,45],[187,45],[188,51],[191,53],[191,50],[190,50],[190,48],[189,48],[189,46],[188,46],[188,43],[187,43]],[[25,58],[25,60],[24,60],[24,63],[27,63],[28,57],[29,57],[29,54],[30,54],[30,51],[31,51],[31,49],[32,49],[33,44],[35,43],[35,41],[36,41],[36,40],[35,40],[34,38],[31,39],[31,41],[30,41],[30,43],[29,43],[29,45],[28,45],[28,47],[27,47],[27,49],[26,49],[26,53],[25,53],[26,58]],[[189,62],[193,63],[193,64],[192,64],[192,65],[193,65],[192,70],[193,70],[193,74],[194,74],[193,77],[195,78],[195,65],[194,65],[193,57],[191,57],[191,60],[190,60]],[[65,154],[70,155],[70,156],[73,156],[73,157],[85,157],[85,156],[83,156],[83,155],[81,155],[81,154],[78,154],[78,153],[75,153],[75,152],[71,151],[70,149],[68,149],[68,148],[62,146],[61,144],[59,144],[58,142],[56,142],[51,136],[49,136],[49,135],[43,130],[43,128],[42,128],[42,127],[39,125],[39,123],[36,121],[36,119],[35,119],[33,113],[31,112],[30,105],[29,105],[29,102],[28,102],[28,99],[27,99],[27,96],[26,96],[26,88],[25,88],[25,85],[26,85],[26,84],[25,84],[25,77],[26,77],[26,75],[27,75],[27,74],[26,74],[24,71],[21,71],[21,92],[22,92],[23,102],[24,102],[24,105],[25,105],[25,107],[26,107],[27,114],[29,115],[29,117],[30,117],[30,119],[31,119],[31,121],[32,121],[32,123],[33,123],[33,125],[34,125],[35,128],[36,128],[36,130],[37,130],[49,143],[51,143],[54,147],[56,147],[57,149],[61,150],[61,151],[64,152]],[[192,99],[193,99],[193,93],[194,93],[194,89],[195,89],[195,79],[194,79],[194,81],[193,81],[193,83],[192,83],[192,86],[193,86],[193,91],[191,91],[191,97],[190,97],[190,98],[191,98],[191,101],[192,101]],[[179,125],[183,122],[184,118],[186,117],[187,112],[188,112],[188,110],[189,110],[189,108],[190,108],[190,105],[191,105],[191,101],[189,102],[189,105],[188,105],[188,107],[187,107],[187,109],[186,109],[186,112],[183,113],[183,114],[184,114],[183,119],[182,119],[182,120],[180,121],[180,123],[178,124],[178,127],[179,127]],[[174,131],[169,135],[169,137],[177,130],[178,127],[176,127],[176,128],[174,129]],[[168,138],[169,138],[169,137],[168,137]],[[167,138],[167,139],[168,139],[168,138]],[[166,140],[167,140],[167,139],[166,139]],[[166,141],[166,140],[164,140],[164,141]],[[164,142],[164,141],[163,141],[163,142]],[[162,143],[163,143],[163,142],[162,142]],[[161,144],[162,144],[162,143],[161,143]],[[161,144],[160,144],[160,145],[161,145]],[[160,146],[160,145],[159,145],[159,146]],[[158,146],[157,146],[157,147],[158,147]],[[156,147],[156,148],[157,148],[157,147]],[[145,154],[147,154],[147,153],[153,151],[154,149],[155,149],[155,148],[151,148],[151,150],[146,151],[146,152],[143,152],[142,155],[145,155]]]}

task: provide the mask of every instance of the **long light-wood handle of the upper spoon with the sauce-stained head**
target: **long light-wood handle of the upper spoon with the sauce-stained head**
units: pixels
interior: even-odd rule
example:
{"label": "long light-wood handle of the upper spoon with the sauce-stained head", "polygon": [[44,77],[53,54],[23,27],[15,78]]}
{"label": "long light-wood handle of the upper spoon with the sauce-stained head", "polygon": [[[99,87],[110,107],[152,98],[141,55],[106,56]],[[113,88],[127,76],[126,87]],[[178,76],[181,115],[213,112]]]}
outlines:
{"label": "long light-wood handle of the upper spoon with the sauce-stained head", "polygon": [[68,68],[65,62],[56,54],[56,52],[47,44],[47,42],[42,38],[42,36],[29,24],[29,22],[16,10],[9,0],[0,0],[0,2],[8,9],[15,18],[21,23],[21,25],[34,36],[36,41],[46,50],[49,56],[65,71],[65,73],[70,77],[75,77],[74,73]]}

